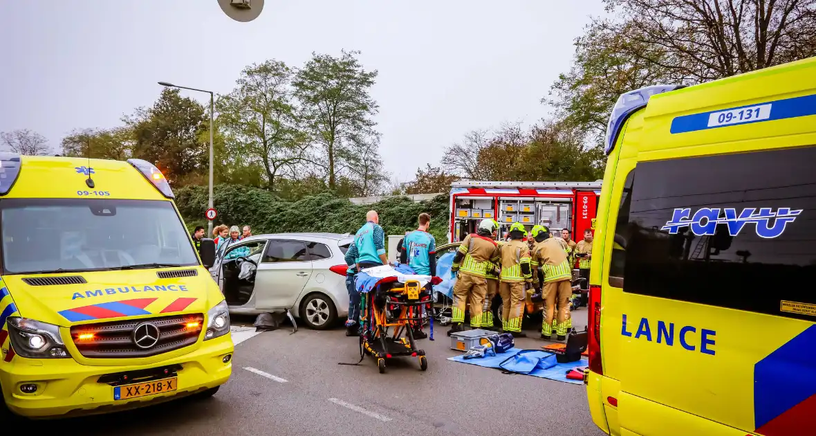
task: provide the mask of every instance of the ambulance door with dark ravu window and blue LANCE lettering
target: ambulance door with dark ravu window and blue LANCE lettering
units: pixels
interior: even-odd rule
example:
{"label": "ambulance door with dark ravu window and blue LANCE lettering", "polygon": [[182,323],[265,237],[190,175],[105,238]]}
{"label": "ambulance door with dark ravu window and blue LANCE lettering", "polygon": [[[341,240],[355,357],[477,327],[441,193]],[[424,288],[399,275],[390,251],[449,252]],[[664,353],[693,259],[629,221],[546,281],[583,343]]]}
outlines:
{"label": "ambulance door with dark ravu window and blue LANCE lettering", "polygon": [[623,310],[602,327],[621,339],[623,428],[816,428],[813,162],[809,145],[641,161],[629,174],[609,274]]}

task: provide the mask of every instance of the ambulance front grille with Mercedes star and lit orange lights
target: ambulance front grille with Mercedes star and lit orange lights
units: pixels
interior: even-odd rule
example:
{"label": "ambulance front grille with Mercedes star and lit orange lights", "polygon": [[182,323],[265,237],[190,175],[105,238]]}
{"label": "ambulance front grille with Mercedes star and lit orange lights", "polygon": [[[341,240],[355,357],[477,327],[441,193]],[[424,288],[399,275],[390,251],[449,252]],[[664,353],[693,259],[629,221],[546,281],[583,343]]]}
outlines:
{"label": "ambulance front grille with Mercedes star and lit orange lights", "polygon": [[[143,323],[151,323],[159,331],[156,344],[148,349],[140,348],[134,340],[135,328]],[[146,358],[195,344],[203,323],[203,314],[127,319],[73,326],[71,337],[86,358]]]}

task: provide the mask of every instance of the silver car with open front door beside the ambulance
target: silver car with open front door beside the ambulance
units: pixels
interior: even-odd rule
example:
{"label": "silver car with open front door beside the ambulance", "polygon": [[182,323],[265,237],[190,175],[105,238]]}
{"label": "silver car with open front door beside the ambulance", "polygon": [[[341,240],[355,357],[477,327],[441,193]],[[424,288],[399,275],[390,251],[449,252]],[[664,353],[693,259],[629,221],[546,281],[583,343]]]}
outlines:
{"label": "silver car with open front door beside the ambulance", "polygon": [[290,310],[323,330],[348,315],[348,234],[260,234],[218,253],[210,272],[232,314]]}

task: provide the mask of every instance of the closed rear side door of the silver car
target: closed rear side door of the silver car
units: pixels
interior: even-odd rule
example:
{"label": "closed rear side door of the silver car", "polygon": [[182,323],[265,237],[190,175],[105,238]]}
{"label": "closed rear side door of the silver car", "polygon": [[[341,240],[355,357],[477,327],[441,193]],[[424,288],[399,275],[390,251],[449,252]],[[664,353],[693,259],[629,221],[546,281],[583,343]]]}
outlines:
{"label": "closed rear side door of the silver car", "polygon": [[289,309],[312,276],[306,244],[270,239],[255,275],[255,309]]}

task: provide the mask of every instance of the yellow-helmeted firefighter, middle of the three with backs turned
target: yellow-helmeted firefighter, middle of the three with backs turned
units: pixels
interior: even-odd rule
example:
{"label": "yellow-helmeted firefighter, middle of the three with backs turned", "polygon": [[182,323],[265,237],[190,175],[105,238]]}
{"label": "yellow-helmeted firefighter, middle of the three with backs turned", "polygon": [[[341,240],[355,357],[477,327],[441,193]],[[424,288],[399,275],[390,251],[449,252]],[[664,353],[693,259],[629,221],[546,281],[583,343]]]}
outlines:
{"label": "yellow-helmeted firefighter, middle of the three with backs turned", "polygon": [[526,288],[533,280],[530,270],[530,249],[525,238],[527,231],[521,223],[510,226],[510,241],[502,244],[499,293],[502,296],[503,330],[513,337],[525,337],[521,331],[524,317]]}

